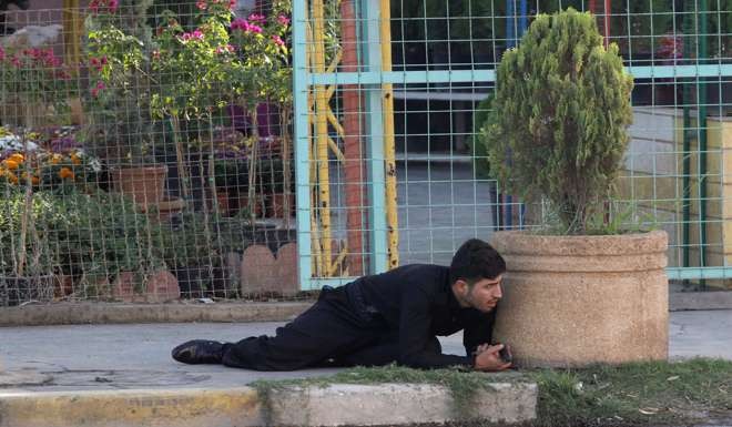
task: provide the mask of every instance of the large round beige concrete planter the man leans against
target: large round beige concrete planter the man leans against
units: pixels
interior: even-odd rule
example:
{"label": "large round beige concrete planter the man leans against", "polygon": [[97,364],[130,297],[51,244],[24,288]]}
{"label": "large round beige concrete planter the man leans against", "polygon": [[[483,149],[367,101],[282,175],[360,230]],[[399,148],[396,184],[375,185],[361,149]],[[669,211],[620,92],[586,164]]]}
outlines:
{"label": "large round beige concrete planter the man leans against", "polygon": [[668,235],[498,232],[504,301],[495,339],[517,365],[583,366],[668,357]]}

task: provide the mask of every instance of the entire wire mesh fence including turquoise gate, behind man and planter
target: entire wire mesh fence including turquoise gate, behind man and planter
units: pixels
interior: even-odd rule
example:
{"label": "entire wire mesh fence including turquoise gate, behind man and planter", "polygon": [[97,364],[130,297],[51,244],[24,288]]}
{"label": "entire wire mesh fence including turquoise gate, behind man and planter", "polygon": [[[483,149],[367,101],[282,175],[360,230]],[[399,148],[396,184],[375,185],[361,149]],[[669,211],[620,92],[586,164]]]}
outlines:
{"label": "entire wire mesh fence including turquoise gate, behind man and planter", "polygon": [[730,0],[17,3],[0,305],[302,298],[546,227],[481,129],[504,53],[568,7],[634,77],[604,226],[662,227],[672,279],[730,286]]}

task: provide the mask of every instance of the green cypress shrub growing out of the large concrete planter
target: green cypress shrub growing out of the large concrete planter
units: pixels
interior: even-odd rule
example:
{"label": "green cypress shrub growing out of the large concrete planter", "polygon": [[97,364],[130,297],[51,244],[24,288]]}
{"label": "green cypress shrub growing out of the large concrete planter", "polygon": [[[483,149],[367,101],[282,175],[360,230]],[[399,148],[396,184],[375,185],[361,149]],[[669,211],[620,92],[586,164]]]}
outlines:
{"label": "green cypress shrub growing out of the large concrete planter", "polygon": [[620,170],[632,85],[590,13],[538,16],[498,68],[482,129],[491,174],[514,194],[548,201],[568,234],[584,233]]}

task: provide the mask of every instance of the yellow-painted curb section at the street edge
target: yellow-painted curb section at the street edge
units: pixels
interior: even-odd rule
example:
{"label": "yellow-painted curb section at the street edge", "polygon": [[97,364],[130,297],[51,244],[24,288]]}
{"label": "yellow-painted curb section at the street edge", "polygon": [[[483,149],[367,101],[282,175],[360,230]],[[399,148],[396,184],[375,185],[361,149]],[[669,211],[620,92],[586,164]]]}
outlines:
{"label": "yellow-painted curb section at the street edge", "polygon": [[262,426],[256,390],[0,392],[0,427]]}

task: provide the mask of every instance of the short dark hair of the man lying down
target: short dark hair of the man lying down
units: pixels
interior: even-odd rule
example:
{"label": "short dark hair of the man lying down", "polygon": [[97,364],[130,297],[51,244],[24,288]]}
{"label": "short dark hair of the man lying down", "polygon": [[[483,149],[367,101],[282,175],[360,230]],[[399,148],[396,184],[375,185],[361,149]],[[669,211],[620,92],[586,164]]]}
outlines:
{"label": "short dark hair of the man lying down", "polygon": [[457,250],[450,264],[450,283],[458,279],[469,285],[482,278],[496,278],[506,272],[506,262],[488,243],[470,238]]}

